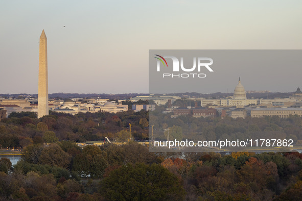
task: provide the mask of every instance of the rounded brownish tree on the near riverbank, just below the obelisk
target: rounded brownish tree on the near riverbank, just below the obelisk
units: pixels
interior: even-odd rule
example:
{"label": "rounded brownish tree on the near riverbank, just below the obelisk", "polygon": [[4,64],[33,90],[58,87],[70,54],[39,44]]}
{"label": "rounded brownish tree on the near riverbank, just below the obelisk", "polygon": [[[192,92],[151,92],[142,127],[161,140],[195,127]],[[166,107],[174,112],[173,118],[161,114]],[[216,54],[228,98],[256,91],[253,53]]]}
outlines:
{"label": "rounded brownish tree on the near riverbank, just below the obelisk", "polygon": [[57,144],[45,147],[40,155],[39,162],[61,168],[67,168],[71,162],[71,157]]}

